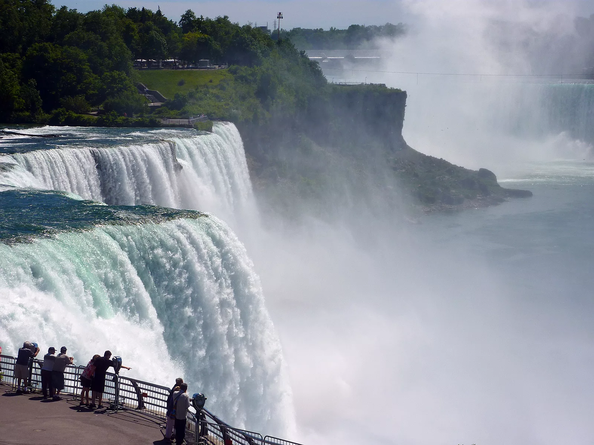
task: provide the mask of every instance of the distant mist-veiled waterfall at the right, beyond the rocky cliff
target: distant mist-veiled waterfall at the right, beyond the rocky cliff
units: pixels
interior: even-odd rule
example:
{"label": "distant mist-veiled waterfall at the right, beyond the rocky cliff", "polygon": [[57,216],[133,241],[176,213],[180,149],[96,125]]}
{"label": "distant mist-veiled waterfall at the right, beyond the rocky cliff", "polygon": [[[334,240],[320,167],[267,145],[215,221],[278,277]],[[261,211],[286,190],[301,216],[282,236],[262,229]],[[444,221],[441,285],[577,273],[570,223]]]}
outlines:
{"label": "distant mist-veiled waterfall at the right, beyond the rocky cliff", "polygon": [[403,136],[425,154],[500,176],[535,161],[594,158],[594,84],[456,77],[392,85],[409,94]]}

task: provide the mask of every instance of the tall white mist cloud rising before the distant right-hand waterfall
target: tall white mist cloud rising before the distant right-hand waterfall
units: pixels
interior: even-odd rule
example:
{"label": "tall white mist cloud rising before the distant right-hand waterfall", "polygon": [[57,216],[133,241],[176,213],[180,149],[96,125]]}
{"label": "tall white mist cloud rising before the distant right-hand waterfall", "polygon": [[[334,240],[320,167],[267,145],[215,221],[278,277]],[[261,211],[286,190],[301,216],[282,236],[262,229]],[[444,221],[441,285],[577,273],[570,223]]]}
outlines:
{"label": "tall white mist cloud rising before the distant right-hand waterfall", "polygon": [[[562,80],[550,74],[581,74],[589,63],[594,39],[579,35],[575,18],[591,2],[410,0],[405,5],[414,25],[402,39],[382,43],[380,71],[386,72],[353,77],[366,75],[368,81],[407,91],[404,135],[411,147],[503,174],[516,164],[576,151],[545,147],[564,130],[551,123],[557,119],[551,108],[554,91],[546,84]],[[579,101],[557,105],[581,106]],[[583,131],[574,133],[583,137]]]}

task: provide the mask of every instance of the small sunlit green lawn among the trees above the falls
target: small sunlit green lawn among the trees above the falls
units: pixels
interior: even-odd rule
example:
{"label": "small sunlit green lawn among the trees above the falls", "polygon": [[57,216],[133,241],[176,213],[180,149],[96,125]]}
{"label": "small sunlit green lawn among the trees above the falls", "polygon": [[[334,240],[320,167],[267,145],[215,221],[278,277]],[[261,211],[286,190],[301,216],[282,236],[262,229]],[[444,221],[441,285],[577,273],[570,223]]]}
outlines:
{"label": "small sunlit green lawn among the trees above the falls", "polygon": [[[175,93],[187,93],[207,83],[216,85],[231,74],[226,69],[140,69],[138,77],[149,90],[172,99]],[[179,85],[181,80],[185,81],[183,85]]]}

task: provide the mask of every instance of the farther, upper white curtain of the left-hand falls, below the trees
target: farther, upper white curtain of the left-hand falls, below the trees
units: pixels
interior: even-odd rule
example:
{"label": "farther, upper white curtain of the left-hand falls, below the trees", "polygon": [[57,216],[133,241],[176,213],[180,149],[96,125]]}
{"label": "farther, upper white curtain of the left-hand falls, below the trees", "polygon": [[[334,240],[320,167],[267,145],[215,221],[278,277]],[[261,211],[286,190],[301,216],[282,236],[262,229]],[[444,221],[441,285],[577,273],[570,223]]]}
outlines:
{"label": "farther, upper white curtain of the left-hand falls, below the trees", "polygon": [[232,123],[216,122],[213,131],[119,147],[5,155],[0,161],[17,168],[0,173],[0,183],[64,190],[113,205],[199,209],[232,221],[254,209],[243,143]]}

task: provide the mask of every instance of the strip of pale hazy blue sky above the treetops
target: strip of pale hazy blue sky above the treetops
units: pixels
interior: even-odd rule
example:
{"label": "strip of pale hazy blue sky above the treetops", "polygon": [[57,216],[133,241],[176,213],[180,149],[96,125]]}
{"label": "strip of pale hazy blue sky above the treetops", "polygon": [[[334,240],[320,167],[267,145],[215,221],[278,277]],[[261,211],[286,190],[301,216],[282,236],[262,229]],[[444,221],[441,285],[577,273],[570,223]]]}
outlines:
{"label": "strip of pale hazy blue sky above the treetops", "polygon": [[[281,26],[285,29],[294,27],[328,28],[335,26],[346,28],[350,24],[379,25],[390,23],[413,23],[415,15],[410,13],[410,5],[424,4],[425,7],[442,2],[457,4],[464,8],[465,0],[283,0],[283,1],[242,1],[242,0],[109,0],[105,3],[116,3],[124,8],[146,7],[156,11],[161,8],[163,14],[172,20],[179,20],[181,14],[192,9],[197,15],[217,17],[229,15],[229,18],[240,24],[248,22],[272,27],[276,14],[283,12]],[[523,0],[492,0],[500,3],[520,3]],[[80,12],[99,9],[104,2],[92,0],[52,0],[56,6],[66,5]],[[472,0],[470,0],[472,2]],[[545,0],[526,0],[526,4],[542,4]],[[485,4],[489,0],[484,1]],[[551,0],[552,4],[574,4],[579,15],[589,16],[594,13],[594,0]],[[415,6],[413,6],[415,8]]]}

